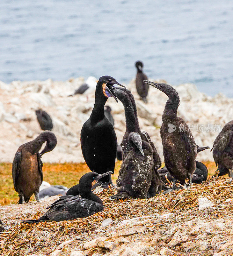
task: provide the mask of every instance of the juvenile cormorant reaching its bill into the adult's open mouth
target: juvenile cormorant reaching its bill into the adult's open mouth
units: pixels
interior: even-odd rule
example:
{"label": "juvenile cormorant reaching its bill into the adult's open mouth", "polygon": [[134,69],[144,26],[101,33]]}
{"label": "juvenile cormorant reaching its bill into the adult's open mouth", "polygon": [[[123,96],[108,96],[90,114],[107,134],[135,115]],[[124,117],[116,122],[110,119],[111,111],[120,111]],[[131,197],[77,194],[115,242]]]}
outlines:
{"label": "juvenile cormorant reaching its bill into the adult's open mouth", "polygon": [[131,132],[137,132],[141,136],[142,140],[145,140],[150,144],[153,150],[154,171],[152,173],[151,186],[148,192],[148,197],[153,197],[156,195],[157,192],[161,191],[162,187],[165,188],[157,171],[157,169],[161,166],[161,159],[153,142],[149,137],[149,134],[147,132],[141,132],[140,130],[137,118],[136,104],[132,93],[127,89],[115,89],[114,93],[122,102],[125,108],[126,132],[121,141],[122,160],[124,161],[128,152],[132,149],[132,146],[128,142],[128,136]]}

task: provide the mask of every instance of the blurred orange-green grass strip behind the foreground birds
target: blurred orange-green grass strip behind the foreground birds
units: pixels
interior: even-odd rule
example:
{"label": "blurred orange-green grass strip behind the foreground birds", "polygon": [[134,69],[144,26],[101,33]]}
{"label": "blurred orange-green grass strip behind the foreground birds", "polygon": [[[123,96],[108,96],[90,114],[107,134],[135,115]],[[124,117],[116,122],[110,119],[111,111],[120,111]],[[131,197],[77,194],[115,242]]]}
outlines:
{"label": "blurred orange-green grass strip behind the foreground birds", "polygon": [[[113,182],[116,181],[118,177],[120,164],[121,162],[117,161],[115,165]],[[207,161],[204,162],[204,164],[206,164],[208,168],[209,177],[214,175],[216,170],[215,163]],[[70,188],[76,185],[80,177],[86,172],[90,172],[90,169],[85,163],[43,164],[43,179],[51,185],[63,185]],[[14,190],[10,163],[0,164],[0,177],[2,179],[0,188],[0,205],[17,203],[18,193]],[[34,200],[34,196],[32,196],[31,199]]]}

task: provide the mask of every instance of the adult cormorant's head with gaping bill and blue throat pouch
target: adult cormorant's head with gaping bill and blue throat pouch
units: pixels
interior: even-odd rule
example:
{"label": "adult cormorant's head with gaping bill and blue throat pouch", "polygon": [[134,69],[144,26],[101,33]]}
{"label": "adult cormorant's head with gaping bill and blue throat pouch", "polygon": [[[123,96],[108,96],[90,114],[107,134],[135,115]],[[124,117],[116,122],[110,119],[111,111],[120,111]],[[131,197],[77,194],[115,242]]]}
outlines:
{"label": "adult cormorant's head with gaping bill and blue throat pouch", "polygon": [[116,87],[113,86],[114,84],[118,84],[118,85],[125,88],[124,85],[119,84],[116,81],[116,79],[113,78],[112,76],[101,76],[99,78],[98,83],[97,83],[96,90],[98,90],[98,87],[101,86],[104,96],[106,98],[113,97],[117,102],[117,98],[116,98],[116,96],[114,95],[114,92],[113,92],[113,89],[116,88]]}

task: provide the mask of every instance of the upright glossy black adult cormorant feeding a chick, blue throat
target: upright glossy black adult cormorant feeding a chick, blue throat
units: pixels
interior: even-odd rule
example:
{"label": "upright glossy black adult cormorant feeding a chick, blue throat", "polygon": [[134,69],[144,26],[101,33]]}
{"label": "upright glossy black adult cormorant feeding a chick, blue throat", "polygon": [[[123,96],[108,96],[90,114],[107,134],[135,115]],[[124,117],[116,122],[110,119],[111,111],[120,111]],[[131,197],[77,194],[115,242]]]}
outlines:
{"label": "upright glossy black adult cormorant feeding a chick, blue throat", "polygon": [[[104,115],[104,105],[108,97],[116,99],[113,85],[119,84],[111,76],[102,76],[96,85],[95,105],[90,118],[81,130],[81,148],[84,160],[91,171],[99,174],[114,172],[117,152],[117,138],[113,125]],[[124,86],[123,86],[124,87]],[[111,175],[100,180],[104,186],[112,184]]]}

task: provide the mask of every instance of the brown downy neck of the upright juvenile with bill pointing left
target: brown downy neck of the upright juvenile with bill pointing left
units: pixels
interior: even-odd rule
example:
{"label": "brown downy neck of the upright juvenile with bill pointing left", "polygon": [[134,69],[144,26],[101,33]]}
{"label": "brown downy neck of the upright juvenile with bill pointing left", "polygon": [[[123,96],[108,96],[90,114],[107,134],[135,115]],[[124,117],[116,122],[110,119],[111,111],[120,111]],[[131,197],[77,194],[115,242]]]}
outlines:
{"label": "brown downy neck of the upright juvenile with bill pointing left", "polygon": [[162,116],[162,121],[165,126],[175,121],[177,117],[177,109],[179,106],[179,95],[177,92],[170,93],[168,97],[169,99],[166,102]]}

